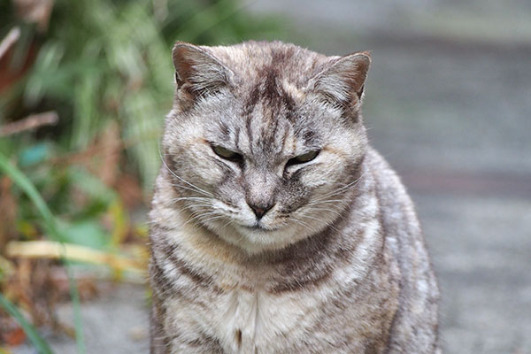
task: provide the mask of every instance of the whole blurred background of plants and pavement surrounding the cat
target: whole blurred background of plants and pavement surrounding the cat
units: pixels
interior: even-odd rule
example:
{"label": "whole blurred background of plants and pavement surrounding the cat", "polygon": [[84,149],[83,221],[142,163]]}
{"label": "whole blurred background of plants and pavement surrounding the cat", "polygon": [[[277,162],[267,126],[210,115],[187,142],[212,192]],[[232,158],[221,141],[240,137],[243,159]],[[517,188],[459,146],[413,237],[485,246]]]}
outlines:
{"label": "whole blurred background of plants and pavement surrounding the cat", "polygon": [[364,116],[417,204],[447,353],[531,353],[531,3],[0,0],[0,353],[148,352],[171,47],[372,50]]}

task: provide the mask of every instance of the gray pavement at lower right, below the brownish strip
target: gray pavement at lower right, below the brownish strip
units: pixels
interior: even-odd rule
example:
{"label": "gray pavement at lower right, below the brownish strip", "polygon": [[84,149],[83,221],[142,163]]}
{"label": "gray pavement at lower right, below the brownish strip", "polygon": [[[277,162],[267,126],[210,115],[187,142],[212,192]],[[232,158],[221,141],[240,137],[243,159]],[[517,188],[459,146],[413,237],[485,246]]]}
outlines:
{"label": "gray pavement at lower right, below the brownish strip", "polygon": [[444,352],[531,353],[531,201],[413,199],[442,290]]}

